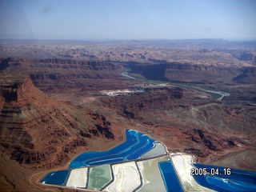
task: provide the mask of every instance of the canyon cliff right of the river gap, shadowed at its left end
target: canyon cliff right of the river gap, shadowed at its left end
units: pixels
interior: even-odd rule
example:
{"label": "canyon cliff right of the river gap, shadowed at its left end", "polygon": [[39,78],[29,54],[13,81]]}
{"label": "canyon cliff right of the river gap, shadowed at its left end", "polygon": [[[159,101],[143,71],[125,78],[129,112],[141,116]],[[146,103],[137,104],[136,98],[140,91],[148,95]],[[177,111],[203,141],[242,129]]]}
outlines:
{"label": "canyon cliff right of the river gap, shadowed at its left end", "polygon": [[[256,67],[203,66],[192,63],[170,62],[155,65],[135,64],[130,66],[133,73],[142,74],[147,79],[171,82],[232,82],[242,74],[252,74]],[[255,83],[250,75],[248,83]],[[241,78],[240,78],[241,79]],[[247,79],[247,78],[246,78]],[[239,82],[239,81],[237,81]],[[240,80],[242,82],[242,80]]]}

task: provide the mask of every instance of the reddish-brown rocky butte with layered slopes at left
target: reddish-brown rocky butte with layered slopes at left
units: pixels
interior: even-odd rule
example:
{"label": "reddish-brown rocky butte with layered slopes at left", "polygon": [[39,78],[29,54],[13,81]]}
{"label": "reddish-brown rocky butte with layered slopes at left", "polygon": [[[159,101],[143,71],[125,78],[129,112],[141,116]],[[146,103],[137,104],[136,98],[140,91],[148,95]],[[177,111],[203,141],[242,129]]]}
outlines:
{"label": "reddish-brown rocky butte with layered slopes at left", "polygon": [[114,139],[111,123],[101,114],[86,114],[49,98],[27,76],[2,77],[0,150],[10,159],[32,168],[52,168],[67,162],[78,146],[87,146],[88,139]]}

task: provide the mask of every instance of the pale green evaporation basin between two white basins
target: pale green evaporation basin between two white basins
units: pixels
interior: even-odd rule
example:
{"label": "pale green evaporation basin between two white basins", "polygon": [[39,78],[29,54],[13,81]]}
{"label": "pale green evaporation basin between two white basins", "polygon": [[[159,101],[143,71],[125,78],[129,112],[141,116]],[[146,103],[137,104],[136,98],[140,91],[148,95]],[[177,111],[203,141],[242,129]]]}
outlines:
{"label": "pale green evaporation basin between two white basins", "polygon": [[110,165],[95,166],[90,168],[88,189],[101,190],[112,180]]}

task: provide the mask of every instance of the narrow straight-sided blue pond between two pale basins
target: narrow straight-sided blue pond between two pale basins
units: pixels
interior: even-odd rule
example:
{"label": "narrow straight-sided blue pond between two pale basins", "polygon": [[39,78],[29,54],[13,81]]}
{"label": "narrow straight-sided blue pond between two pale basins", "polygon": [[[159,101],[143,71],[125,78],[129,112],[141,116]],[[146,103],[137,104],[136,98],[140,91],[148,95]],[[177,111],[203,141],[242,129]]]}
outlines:
{"label": "narrow straight-sided blue pond between two pale basins", "polygon": [[178,177],[175,173],[174,167],[172,166],[170,161],[158,162],[158,167],[162,174],[162,179],[165,182],[167,191],[183,191],[182,186],[178,181]]}

